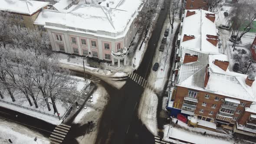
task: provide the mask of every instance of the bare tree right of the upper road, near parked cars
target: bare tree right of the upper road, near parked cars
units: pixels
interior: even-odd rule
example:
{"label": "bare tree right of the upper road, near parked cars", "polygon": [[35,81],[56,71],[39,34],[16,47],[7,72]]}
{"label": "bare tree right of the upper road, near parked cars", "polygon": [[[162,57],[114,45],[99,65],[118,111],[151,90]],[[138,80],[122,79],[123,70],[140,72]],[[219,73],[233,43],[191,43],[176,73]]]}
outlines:
{"label": "bare tree right of the upper road, near parked cars", "polygon": [[174,23],[175,17],[177,16],[177,13],[180,9],[181,9],[180,0],[172,0],[171,6],[169,9],[169,21],[171,24],[171,33],[173,31],[173,23]]}

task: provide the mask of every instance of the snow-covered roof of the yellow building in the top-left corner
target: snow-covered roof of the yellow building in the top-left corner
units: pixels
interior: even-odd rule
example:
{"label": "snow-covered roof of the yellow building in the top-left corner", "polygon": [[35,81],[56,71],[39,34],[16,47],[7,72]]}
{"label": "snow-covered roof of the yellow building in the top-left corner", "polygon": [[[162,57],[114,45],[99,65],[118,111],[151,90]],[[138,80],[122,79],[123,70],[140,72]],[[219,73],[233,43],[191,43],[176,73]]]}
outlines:
{"label": "snow-covered roof of the yellow building in the top-left corner", "polygon": [[32,15],[47,5],[47,2],[36,0],[1,0],[0,10]]}

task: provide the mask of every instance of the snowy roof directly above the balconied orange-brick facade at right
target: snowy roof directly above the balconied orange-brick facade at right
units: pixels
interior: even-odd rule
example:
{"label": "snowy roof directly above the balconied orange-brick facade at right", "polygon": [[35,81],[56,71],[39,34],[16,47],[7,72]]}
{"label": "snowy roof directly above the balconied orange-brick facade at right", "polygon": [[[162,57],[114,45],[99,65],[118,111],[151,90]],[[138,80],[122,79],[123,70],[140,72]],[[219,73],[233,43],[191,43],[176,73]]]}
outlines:
{"label": "snowy roof directly above the balconied orange-brick facade at right", "polygon": [[[213,63],[215,59],[226,61],[227,57],[223,54],[209,54],[193,49],[181,49],[181,62],[185,53],[197,55],[197,62],[182,63],[178,76],[178,86],[192,88],[200,91],[225,95],[230,98],[255,101],[256,90],[253,86],[246,85],[247,75],[236,72],[224,71]],[[209,64],[210,78],[204,88],[204,77],[206,66]],[[256,85],[256,84],[253,84]]]}

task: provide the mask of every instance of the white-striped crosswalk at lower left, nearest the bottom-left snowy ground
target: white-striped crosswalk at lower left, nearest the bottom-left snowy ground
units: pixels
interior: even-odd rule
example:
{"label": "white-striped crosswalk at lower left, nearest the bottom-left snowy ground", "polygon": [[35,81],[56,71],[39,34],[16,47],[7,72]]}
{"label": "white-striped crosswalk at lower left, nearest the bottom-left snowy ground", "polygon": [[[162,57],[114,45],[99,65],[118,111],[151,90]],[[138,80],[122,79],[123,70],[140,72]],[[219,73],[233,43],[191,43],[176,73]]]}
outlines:
{"label": "white-striped crosswalk at lower left, nearest the bottom-left snowy ground", "polygon": [[49,139],[51,140],[52,144],[61,144],[66,134],[69,132],[71,126],[66,124],[56,125],[55,129],[51,133]]}

